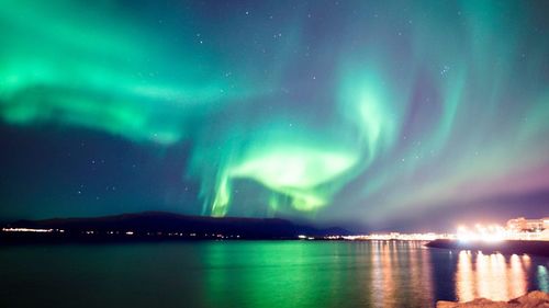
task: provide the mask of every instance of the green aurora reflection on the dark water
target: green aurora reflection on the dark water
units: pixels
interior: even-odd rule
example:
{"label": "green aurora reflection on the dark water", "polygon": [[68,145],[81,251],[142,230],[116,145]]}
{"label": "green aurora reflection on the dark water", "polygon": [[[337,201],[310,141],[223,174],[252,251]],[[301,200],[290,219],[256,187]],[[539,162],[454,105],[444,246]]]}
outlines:
{"label": "green aurora reflection on the dark water", "polygon": [[[332,307],[355,290],[352,284],[366,267],[349,248],[303,242],[209,246],[209,301],[214,307]],[[369,301],[368,293],[360,300]]]}

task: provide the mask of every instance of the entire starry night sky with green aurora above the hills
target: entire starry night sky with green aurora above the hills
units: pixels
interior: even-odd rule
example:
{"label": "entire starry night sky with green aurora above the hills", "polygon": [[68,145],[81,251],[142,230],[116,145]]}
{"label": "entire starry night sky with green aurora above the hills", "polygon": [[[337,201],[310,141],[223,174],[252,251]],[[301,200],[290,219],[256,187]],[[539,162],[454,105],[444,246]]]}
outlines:
{"label": "entire starry night sky with green aurora above the hills", "polygon": [[0,33],[0,220],[549,216],[547,1],[1,0]]}

